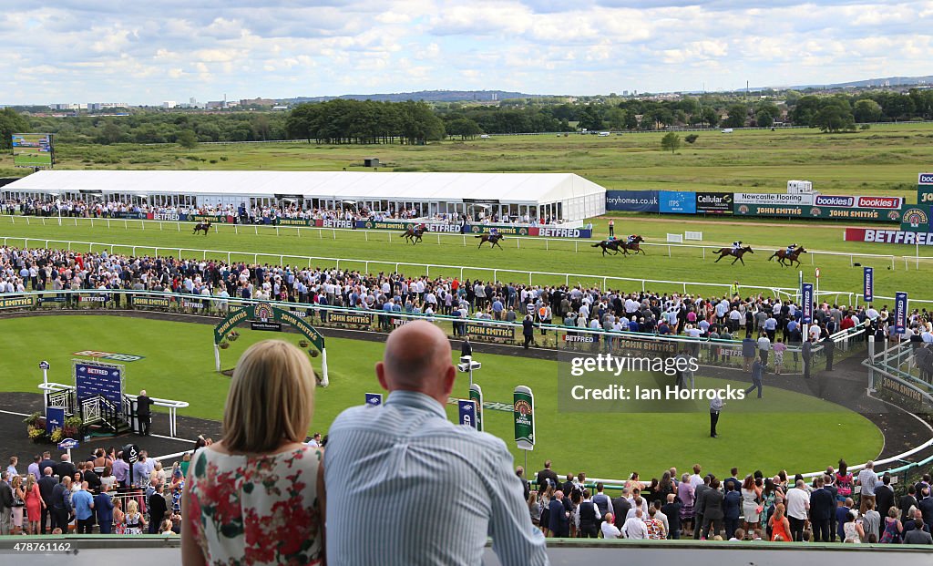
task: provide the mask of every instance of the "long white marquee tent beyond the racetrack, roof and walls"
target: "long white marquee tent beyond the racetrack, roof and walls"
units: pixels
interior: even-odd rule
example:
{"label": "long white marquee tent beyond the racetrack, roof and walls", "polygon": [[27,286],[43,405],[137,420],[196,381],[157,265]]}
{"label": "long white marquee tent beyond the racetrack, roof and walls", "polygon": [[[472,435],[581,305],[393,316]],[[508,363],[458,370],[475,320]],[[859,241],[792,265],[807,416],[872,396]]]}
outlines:
{"label": "long white marquee tent beyond the racetrack, roof and walls", "polygon": [[347,171],[39,171],[0,189],[6,198],[124,200],[150,205],[366,206],[575,221],[606,212],[606,189],[570,173]]}

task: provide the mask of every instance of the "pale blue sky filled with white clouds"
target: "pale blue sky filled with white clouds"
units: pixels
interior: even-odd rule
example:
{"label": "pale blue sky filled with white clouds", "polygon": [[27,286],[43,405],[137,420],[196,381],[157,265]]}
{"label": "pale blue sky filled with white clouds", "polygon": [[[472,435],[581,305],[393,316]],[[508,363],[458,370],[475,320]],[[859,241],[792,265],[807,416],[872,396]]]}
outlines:
{"label": "pale blue sky filled with white clouds", "polygon": [[720,91],[746,80],[780,87],[933,75],[933,0],[3,4],[6,105]]}

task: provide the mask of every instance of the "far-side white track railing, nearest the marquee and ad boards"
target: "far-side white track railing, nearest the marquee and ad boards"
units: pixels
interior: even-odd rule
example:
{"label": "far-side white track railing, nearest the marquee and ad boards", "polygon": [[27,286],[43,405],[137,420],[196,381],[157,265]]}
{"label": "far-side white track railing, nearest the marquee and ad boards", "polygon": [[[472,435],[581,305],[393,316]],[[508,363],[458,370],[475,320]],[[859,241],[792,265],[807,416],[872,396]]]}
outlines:
{"label": "far-side white track railing, nearest the marquee and ad boards", "polygon": [[[141,227],[142,230],[146,230],[146,224],[150,224],[150,227],[148,228],[148,230],[156,230],[156,226],[158,226],[158,230],[164,231],[165,226],[167,225],[170,231],[173,231],[172,229],[174,228],[174,232],[181,232],[183,226],[185,227],[186,230],[188,230],[193,225],[193,222],[187,222],[187,221],[182,222],[182,221],[175,221],[175,220],[144,220],[144,219],[92,219],[92,218],[77,218],[77,217],[59,218],[59,217],[9,216],[9,215],[0,215],[0,219],[9,219],[10,222],[13,224],[15,224],[17,221],[22,222],[22,220],[25,220],[25,223],[27,225],[31,225],[31,222],[39,222],[43,226],[47,225],[47,220],[49,221],[48,223],[51,225],[70,224],[73,226],[78,226],[78,220],[80,220],[82,222],[83,221],[90,222],[91,228],[94,227],[94,224],[96,222],[97,224],[100,224],[100,225],[106,225],[108,229],[112,228],[113,226],[117,226],[117,227],[122,226],[124,230],[129,230],[130,227],[133,225],[133,222],[136,222],[138,223],[138,225]],[[404,220],[399,220],[399,221],[404,222]],[[305,233],[309,233],[309,232],[312,234],[316,233],[318,239],[324,239],[325,237],[324,234],[328,233],[328,237],[334,240],[337,239],[337,233],[356,233],[356,234],[362,233],[364,239],[367,242],[369,242],[370,234],[375,234],[376,236],[387,236],[387,239],[389,242],[392,242],[393,234],[395,234],[396,239],[399,239],[398,231],[394,231],[394,230],[366,230],[366,229],[353,230],[350,228],[323,228],[323,227],[317,227],[317,226],[271,226],[271,225],[259,225],[259,224],[226,224],[226,223],[212,224],[212,228],[214,228],[215,233],[220,233],[221,228],[223,228],[223,232],[231,232],[230,230],[231,228],[233,233],[239,234],[241,232],[243,233],[252,232],[255,235],[258,235],[260,230],[262,231],[274,230],[276,235],[281,235],[282,231],[285,231],[286,233],[288,231],[294,231],[293,233],[295,233],[298,237],[302,237],[301,232],[304,231]],[[250,230],[251,228],[252,230]],[[699,234],[700,238],[703,237],[702,232],[690,233],[690,234],[693,234],[693,235]],[[433,233],[425,233],[423,239],[433,237],[437,239],[438,244],[441,244],[442,238],[446,238],[447,240],[451,240],[453,238],[460,238],[461,245],[463,247],[466,247],[467,244],[472,245],[476,243],[473,239],[473,236],[475,235],[476,234],[474,233],[461,234],[461,233],[433,232]],[[679,235],[679,234],[674,234],[674,235]],[[313,235],[311,237],[313,237]],[[685,237],[686,237],[686,233],[685,233]],[[693,238],[687,237],[686,239],[693,239]],[[579,253],[580,251],[579,248],[581,247],[580,244],[583,244],[582,248],[584,249],[584,251],[586,251],[588,247],[592,246],[592,243],[597,242],[597,241],[599,240],[598,239],[581,240],[578,238],[545,238],[545,237],[536,237],[536,236],[515,236],[515,235],[507,235],[506,238],[502,240],[502,242],[504,242],[507,246],[510,245],[509,242],[515,242],[515,248],[522,248],[522,242],[525,242],[526,247],[528,246],[529,242],[544,242],[544,248],[548,250],[550,250],[551,245],[556,245],[558,246],[558,249],[560,249],[561,246],[564,246],[565,248],[569,248],[570,247],[569,245],[572,243],[575,253]],[[785,248],[783,245],[782,246],[772,246],[772,245],[767,245],[767,244],[753,244],[753,245],[756,248],[765,248],[765,249]],[[702,253],[704,260],[706,259],[706,250],[716,251],[719,248],[728,247],[725,245],[704,246],[704,245],[683,244],[683,243],[675,243],[675,242],[665,242],[665,243],[642,242],[641,246],[644,248],[667,248],[668,257],[673,257],[673,252],[675,248],[696,249]],[[850,267],[852,267],[855,264],[856,258],[883,259],[885,261],[890,260],[892,270],[896,268],[896,261],[898,258],[898,256],[892,255],[892,254],[856,253],[856,252],[843,252],[843,251],[810,251],[810,250],[807,250],[807,253],[805,255],[810,256],[811,265],[816,264],[815,256],[820,256],[820,255],[838,256],[842,258],[847,257],[849,258]],[[920,258],[920,259],[933,260],[933,258]]]}

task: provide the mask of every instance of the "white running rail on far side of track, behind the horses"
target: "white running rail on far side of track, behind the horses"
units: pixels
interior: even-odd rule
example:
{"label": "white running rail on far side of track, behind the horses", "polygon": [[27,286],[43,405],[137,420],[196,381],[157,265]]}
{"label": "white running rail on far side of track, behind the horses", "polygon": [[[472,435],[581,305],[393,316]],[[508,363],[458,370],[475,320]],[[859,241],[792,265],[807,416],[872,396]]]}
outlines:
{"label": "white running rail on far side of track, behind the horses", "polygon": [[[10,224],[25,223],[27,226],[33,224],[41,224],[42,226],[48,225],[70,225],[70,226],[80,226],[82,224],[89,225],[91,228],[95,226],[106,226],[107,229],[113,228],[123,228],[123,230],[139,229],[139,230],[159,230],[160,232],[169,231],[169,232],[182,232],[182,228],[188,230],[193,226],[193,222],[182,222],[175,220],[144,220],[144,219],[92,219],[92,218],[77,218],[77,217],[30,217],[30,216],[8,216],[0,215],[0,224],[7,223],[7,220]],[[148,228],[146,227],[148,225]],[[352,230],[349,228],[322,228],[316,226],[271,226],[271,225],[259,225],[259,224],[213,224],[211,226],[214,228],[215,233],[250,233],[258,235],[259,233],[269,231],[268,233],[275,232],[275,235],[289,235],[294,234],[297,237],[302,237],[302,232],[305,234],[311,234],[310,237],[317,237],[318,239],[324,239],[325,237],[329,239],[337,239],[338,233],[341,234],[363,234],[365,241],[369,242],[369,238],[373,237],[376,241],[383,241],[383,237],[387,237],[389,242],[392,242],[393,235],[396,239],[399,238],[398,231],[393,230]],[[325,235],[327,233],[327,236]],[[425,233],[424,239],[436,240],[440,245],[442,243],[447,243],[453,239],[459,239],[461,246],[466,247],[467,244],[473,245],[476,244],[473,236],[476,234],[473,233]],[[382,236],[382,237],[381,237]],[[675,238],[676,241],[671,241],[672,236],[681,236],[681,234],[667,234],[668,241],[664,243],[652,243],[652,242],[643,242],[642,247],[645,248],[661,248],[663,250],[666,248],[667,256],[673,257],[675,248],[686,248],[686,249],[695,249],[698,250],[703,259],[706,259],[706,251],[710,250],[711,252],[716,252],[718,249],[723,248],[723,246],[703,246],[697,244],[684,244],[684,240],[701,240],[703,238],[702,232],[687,232],[684,233],[681,237]],[[358,235],[357,235],[358,237]],[[513,236],[507,235],[503,242],[508,246],[509,242],[515,242],[515,248],[521,249],[522,243],[525,247],[528,247],[530,243],[540,243],[544,242],[544,248],[550,250],[551,247],[555,249],[568,249],[570,244],[573,244],[574,252],[578,253],[580,248],[583,248],[584,251],[587,248],[591,248],[595,242],[598,242],[597,239],[592,240],[581,240],[573,238],[544,238],[536,236]],[[771,246],[766,244],[756,244],[757,248],[764,249],[782,249],[784,246]],[[898,257],[904,260],[904,269],[908,269],[908,262],[915,262],[915,269],[920,268],[920,261],[933,260],[933,257],[926,256],[898,256],[893,254],[874,254],[874,253],[856,253],[856,252],[843,252],[843,251],[807,251],[804,254],[804,262],[806,262],[806,257],[810,258],[810,264],[816,264],[816,256],[835,256],[840,258],[849,258],[849,266],[852,267],[856,263],[856,259],[867,258],[871,260],[884,260],[884,262],[891,263],[891,269],[895,270],[897,268]],[[711,257],[715,257],[712,256]]]}

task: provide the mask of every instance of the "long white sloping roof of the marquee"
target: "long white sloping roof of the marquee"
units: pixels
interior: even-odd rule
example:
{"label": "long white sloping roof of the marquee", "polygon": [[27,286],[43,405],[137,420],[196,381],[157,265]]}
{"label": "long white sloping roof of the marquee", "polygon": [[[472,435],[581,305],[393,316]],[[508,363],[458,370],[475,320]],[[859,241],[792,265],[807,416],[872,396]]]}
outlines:
{"label": "long white sloping roof of the marquee", "polygon": [[538,204],[606,189],[571,173],[369,173],[347,171],[39,171],[4,191],[202,196],[301,195],[343,200]]}

